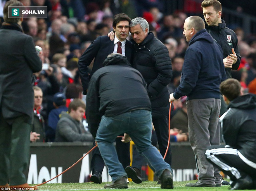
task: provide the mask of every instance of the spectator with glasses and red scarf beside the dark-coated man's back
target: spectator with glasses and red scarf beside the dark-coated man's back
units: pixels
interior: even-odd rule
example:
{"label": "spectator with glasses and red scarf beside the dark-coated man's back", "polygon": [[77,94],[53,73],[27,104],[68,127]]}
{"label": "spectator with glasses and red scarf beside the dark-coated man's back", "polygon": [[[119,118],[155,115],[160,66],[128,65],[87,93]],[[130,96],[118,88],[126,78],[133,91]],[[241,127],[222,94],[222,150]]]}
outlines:
{"label": "spectator with glasses and red scarf beside the dark-coated man's back", "polygon": [[32,125],[32,132],[36,132],[40,134],[40,139],[37,139],[36,142],[44,142],[45,141],[45,127],[44,120],[40,111],[42,110],[42,102],[43,102],[43,91],[41,88],[37,86],[33,86],[35,98],[34,98],[34,118]]}

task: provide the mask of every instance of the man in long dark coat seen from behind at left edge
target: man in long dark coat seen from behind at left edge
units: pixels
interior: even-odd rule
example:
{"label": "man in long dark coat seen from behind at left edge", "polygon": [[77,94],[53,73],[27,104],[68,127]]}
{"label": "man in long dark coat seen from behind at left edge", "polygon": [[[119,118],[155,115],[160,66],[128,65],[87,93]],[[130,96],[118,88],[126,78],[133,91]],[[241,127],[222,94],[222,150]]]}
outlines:
{"label": "man in long dark coat seen from behind at left edge", "polygon": [[29,160],[32,77],[42,69],[42,62],[32,37],[23,34],[23,19],[8,18],[8,6],[23,5],[17,0],[5,3],[0,29],[0,187],[20,189],[30,187],[23,171]]}

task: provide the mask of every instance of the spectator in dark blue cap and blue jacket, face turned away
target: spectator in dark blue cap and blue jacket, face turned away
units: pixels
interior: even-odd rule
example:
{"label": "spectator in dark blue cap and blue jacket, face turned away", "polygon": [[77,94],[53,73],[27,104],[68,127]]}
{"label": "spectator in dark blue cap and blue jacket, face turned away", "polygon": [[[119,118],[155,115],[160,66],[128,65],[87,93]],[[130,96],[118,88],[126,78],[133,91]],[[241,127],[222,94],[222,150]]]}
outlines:
{"label": "spectator in dark blue cap and blue jacket, face turned away", "polygon": [[67,112],[66,96],[64,93],[55,93],[53,97],[53,105],[55,109],[51,110],[48,115],[48,126],[46,131],[46,138],[48,141],[53,142],[55,139],[55,131],[57,123],[60,119],[62,111]]}

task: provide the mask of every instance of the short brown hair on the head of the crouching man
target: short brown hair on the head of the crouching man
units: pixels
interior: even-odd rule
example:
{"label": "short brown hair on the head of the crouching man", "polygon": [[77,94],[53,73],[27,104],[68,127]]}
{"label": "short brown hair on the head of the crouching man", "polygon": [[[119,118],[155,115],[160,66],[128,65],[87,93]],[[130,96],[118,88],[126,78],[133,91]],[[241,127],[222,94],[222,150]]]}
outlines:
{"label": "short brown hair on the head of the crouching man", "polygon": [[241,84],[237,79],[229,78],[220,84],[220,91],[231,102],[241,95]]}

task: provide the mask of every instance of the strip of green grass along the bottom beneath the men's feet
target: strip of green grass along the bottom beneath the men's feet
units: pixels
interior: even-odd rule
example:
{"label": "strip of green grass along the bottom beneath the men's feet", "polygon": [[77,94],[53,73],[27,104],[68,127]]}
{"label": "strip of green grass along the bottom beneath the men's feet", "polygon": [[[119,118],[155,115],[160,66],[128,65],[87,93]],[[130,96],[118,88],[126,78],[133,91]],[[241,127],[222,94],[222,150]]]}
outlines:
{"label": "strip of green grass along the bottom beneath the men's feet", "polygon": [[[196,191],[221,191],[221,190],[228,190],[229,186],[221,186],[215,188],[190,188],[186,187],[185,184],[187,182],[196,182],[196,181],[183,181],[183,182],[173,182],[174,189],[180,191],[187,191],[187,190],[196,190]],[[85,183],[61,183],[61,184],[43,184],[38,188],[40,190],[58,190],[58,191],[74,191],[74,190],[103,190],[103,186],[109,182],[103,182],[102,184],[94,184],[93,182],[85,182]],[[35,186],[35,184],[33,184]],[[141,190],[149,190],[155,191],[160,190],[160,185],[157,184],[157,181],[144,181],[141,184],[135,184],[134,182],[130,182],[128,184],[129,191],[141,191]],[[112,189],[110,189],[112,190]]]}

